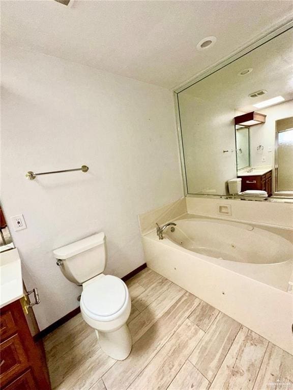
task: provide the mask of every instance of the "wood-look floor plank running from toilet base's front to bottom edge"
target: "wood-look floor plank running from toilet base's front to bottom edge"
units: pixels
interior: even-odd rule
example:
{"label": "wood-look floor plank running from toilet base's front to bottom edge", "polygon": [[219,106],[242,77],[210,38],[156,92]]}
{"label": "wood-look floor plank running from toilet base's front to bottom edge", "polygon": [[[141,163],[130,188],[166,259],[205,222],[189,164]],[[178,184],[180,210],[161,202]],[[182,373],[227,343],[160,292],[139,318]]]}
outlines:
{"label": "wood-look floor plank running from toilet base's front to bottom edge", "polygon": [[99,348],[93,354],[87,354],[87,359],[75,367],[71,375],[55,387],[56,390],[89,390],[107,372],[116,361]]}

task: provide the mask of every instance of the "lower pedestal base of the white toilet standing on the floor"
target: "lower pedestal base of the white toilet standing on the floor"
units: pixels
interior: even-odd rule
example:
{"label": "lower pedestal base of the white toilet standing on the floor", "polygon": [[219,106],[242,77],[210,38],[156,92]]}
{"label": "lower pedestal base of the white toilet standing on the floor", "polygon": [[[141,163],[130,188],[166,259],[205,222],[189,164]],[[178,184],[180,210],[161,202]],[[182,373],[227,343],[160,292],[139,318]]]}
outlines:
{"label": "lower pedestal base of the white toilet standing on the floor", "polygon": [[124,360],[130,354],[132,341],[127,324],[114,332],[95,331],[101,348],[110,358]]}

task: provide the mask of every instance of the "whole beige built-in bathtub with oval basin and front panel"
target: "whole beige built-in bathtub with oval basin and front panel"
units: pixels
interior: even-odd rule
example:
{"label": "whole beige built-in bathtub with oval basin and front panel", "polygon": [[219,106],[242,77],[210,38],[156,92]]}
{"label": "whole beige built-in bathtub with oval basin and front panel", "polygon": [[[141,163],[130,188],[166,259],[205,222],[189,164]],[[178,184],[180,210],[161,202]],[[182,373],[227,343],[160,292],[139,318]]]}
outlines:
{"label": "whole beige built-in bathtub with oval basin and front panel", "polygon": [[293,353],[289,229],[207,217],[142,237],[148,267]]}

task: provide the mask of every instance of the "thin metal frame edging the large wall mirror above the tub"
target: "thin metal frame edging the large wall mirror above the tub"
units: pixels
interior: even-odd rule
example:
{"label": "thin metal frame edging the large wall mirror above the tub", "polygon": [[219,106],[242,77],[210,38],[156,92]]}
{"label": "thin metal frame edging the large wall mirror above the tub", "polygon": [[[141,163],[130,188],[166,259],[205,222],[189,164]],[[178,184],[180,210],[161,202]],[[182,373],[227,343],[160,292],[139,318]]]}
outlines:
{"label": "thin metal frame edging the large wall mirror above the tub", "polygon": [[[226,67],[231,62],[236,61],[237,59],[243,57],[244,55],[248,54],[252,50],[258,48],[259,46],[271,41],[278,35],[283,34],[283,32],[289,30],[290,28],[293,28],[293,20],[290,19],[278,27],[274,28],[273,30],[267,32],[264,34],[261,38],[257,39],[256,41],[252,42],[251,44],[245,46],[244,48],[240,49],[236,54],[233,54],[229,57],[227,57],[225,60],[218,62],[215,66],[211,67],[210,69],[203,71],[199,73],[197,76],[189,80],[187,83],[182,84],[181,86],[173,89],[174,94],[174,104],[175,104],[175,114],[176,114],[176,122],[177,122],[177,131],[178,131],[178,141],[179,141],[179,149],[180,149],[180,160],[181,160],[181,173],[183,177],[183,183],[184,183],[184,192],[186,197],[193,197],[193,198],[215,198],[215,199],[241,199],[246,201],[255,201],[255,202],[263,202],[263,201],[270,201],[270,202],[286,202],[286,199],[292,199],[293,193],[288,192],[274,192],[273,196],[270,198],[265,199],[256,199],[255,197],[249,197],[244,195],[211,195],[211,194],[191,194],[188,193],[187,188],[187,175],[186,175],[186,168],[185,168],[185,159],[184,159],[184,149],[183,149],[183,136],[182,136],[182,130],[181,130],[181,121],[180,121],[180,109],[179,109],[179,98],[178,94],[180,92],[183,92],[185,89],[191,87],[192,85],[196,84],[197,82],[205,79],[206,77],[212,75],[213,73],[219,71],[220,69]],[[291,202],[290,202],[291,203]]]}

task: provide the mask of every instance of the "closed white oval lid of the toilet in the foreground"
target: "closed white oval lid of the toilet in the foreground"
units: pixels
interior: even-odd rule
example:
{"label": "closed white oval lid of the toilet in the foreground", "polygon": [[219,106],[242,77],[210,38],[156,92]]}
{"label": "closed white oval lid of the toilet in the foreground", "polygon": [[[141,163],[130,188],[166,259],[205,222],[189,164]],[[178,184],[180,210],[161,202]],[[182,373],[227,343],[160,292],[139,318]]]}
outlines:
{"label": "closed white oval lid of the toilet in the foreground", "polygon": [[84,288],[81,294],[82,305],[93,316],[111,316],[125,304],[126,288],[121,279],[105,275]]}

